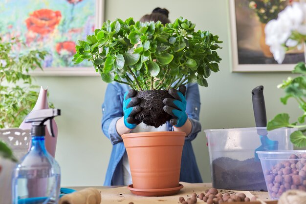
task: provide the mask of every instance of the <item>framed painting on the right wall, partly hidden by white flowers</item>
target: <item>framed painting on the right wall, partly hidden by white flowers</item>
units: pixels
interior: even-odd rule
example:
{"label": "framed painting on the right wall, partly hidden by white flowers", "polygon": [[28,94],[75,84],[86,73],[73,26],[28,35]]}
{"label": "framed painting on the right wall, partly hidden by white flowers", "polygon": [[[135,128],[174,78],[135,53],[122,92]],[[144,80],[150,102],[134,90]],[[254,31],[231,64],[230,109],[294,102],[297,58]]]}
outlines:
{"label": "framed painting on the right wall, partly hidden by white flowers", "polygon": [[269,20],[293,0],[229,0],[233,72],[291,71],[305,61],[304,50],[290,50],[282,64],[274,60],[265,44],[264,28]]}

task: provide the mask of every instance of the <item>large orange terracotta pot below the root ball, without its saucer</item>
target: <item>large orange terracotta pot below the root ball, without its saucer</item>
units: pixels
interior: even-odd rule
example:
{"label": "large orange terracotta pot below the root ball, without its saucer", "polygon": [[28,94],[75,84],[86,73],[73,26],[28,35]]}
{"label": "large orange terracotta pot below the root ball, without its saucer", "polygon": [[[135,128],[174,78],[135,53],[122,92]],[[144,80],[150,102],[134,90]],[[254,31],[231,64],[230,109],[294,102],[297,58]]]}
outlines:
{"label": "large orange terracotta pot below the root ball, without its saucer", "polygon": [[184,132],[138,132],[122,135],[134,188],[178,186]]}

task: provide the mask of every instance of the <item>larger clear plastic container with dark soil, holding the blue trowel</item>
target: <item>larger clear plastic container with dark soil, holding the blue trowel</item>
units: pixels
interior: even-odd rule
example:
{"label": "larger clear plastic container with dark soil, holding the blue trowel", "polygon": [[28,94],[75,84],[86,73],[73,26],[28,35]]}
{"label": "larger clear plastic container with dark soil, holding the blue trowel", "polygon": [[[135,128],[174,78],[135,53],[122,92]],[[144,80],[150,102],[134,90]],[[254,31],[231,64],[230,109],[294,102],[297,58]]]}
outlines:
{"label": "larger clear plastic container with dark soil, holding the blue trowel", "polygon": [[[275,150],[292,150],[289,136],[295,128],[267,132],[278,141]],[[267,191],[262,166],[255,151],[262,147],[261,134],[266,127],[204,130],[209,149],[213,187],[218,189]],[[261,150],[265,150],[264,147]],[[268,150],[268,149],[266,149]]]}

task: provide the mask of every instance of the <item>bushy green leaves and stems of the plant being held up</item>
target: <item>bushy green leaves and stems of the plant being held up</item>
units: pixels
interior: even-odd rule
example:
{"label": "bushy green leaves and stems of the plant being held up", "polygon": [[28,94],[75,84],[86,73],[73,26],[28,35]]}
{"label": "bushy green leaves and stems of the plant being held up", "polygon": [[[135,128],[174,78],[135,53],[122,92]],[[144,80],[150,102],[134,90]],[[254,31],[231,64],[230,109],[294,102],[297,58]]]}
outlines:
{"label": "bushy green leaves and stems of the plant being held up", "polygon": [[[128,84],[134,90],[168,90],[197,82],[219,71],[218,36],[195,32],[182,17],[163,25],[132,18],[106,21],[86,41],[78,41],[73,61],[92,61],[104,82]],[[175,82],[175,83],[174,83]]]}

